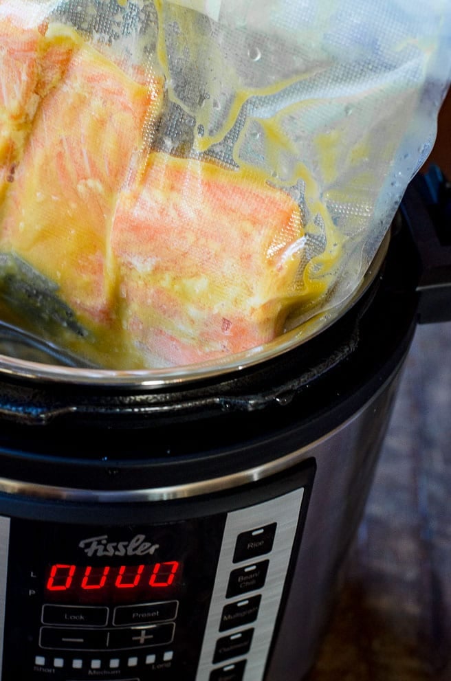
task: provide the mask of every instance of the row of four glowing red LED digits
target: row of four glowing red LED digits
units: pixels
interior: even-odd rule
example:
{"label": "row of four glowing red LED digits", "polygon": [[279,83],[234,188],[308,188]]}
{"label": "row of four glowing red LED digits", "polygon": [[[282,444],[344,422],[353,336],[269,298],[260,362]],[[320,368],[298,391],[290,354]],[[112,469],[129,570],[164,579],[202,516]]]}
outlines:
{"label": "row of four glowing red LED digits", "polygon": [[102,589],[135,589],[134,593],[173,585],[179,572],[178,561],[151,565],[76,566],[55,563],[50,566],[46,581],[47,591],[78,592]]}

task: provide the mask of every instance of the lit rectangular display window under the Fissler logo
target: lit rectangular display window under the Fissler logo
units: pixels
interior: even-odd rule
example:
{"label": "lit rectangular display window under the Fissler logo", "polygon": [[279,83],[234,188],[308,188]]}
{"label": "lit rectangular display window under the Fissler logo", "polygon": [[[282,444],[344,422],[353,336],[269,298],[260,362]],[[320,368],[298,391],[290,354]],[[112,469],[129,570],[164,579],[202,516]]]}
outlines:
{"label": "lit rectangular display window under the Fissler logo", "polygon": [[53,563],[45,574],[45,593],[52,600],[92,602],[153,599],[170,594],[180,582],[181,563],[74,565]]}

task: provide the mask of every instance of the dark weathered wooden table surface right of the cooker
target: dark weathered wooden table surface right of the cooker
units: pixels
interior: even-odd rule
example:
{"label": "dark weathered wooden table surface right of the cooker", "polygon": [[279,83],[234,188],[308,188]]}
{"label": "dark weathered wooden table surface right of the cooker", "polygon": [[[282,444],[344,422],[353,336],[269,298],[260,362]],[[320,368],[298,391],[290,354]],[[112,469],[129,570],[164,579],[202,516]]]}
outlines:
{"label": "dark weathered wooden table surface right of the cooker", "polygon": [[451,681],[451,323],[420,326],[309,681]]}

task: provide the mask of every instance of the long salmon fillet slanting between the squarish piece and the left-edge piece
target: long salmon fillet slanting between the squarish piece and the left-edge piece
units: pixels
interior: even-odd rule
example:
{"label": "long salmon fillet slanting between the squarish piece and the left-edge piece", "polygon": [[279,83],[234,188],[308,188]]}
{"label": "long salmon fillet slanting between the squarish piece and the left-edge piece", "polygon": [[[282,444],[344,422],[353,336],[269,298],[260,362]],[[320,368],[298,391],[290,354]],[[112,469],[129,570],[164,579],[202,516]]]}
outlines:
{"label": "long salmon fillet slanting between the squarish piece and the left-edge piece", "polygon": [[134,82],[58,26],[45,32],[44,64],[39,107],[5,200],[0,249],[52,280],[91,327],[115,315],[115,201],[142,149],[144,122],[161,107],[162,83]]}

